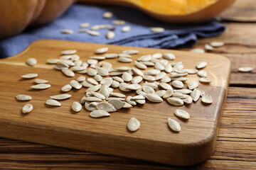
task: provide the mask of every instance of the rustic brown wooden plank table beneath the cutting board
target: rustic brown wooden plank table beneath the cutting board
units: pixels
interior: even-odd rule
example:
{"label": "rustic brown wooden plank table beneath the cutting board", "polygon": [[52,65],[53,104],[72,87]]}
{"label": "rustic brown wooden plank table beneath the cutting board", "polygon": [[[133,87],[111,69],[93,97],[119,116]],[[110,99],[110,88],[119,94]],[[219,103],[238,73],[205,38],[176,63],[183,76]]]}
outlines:
{"label": "rustic brown wooden plank table beneath the cutting board", "polygon": [[225,46],[213,52],[232,62],[218,140],[208,161],[193,167],[176,167],[0,138],[0,169],[255,169],[256,69],[238,72],[238,67],[256,68],[255,16],[255,0],[239,0],[221,16],[227,31],[215,38],[201,39],[195,45],[203,47],[213,40],[223,41]]}

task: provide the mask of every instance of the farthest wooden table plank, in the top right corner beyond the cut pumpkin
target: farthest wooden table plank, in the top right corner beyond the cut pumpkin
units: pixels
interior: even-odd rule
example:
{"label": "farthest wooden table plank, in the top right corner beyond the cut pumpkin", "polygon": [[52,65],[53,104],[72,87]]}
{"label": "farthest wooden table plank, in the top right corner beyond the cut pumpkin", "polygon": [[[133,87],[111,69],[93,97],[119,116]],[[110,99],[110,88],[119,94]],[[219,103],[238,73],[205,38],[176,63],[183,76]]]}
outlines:
{"label": "farthest wooden table plank, in the top right corner beyond the cut pumpkin", "polygon": [[236,0],[220,14],[222,21],[256,22],[255,0]]}

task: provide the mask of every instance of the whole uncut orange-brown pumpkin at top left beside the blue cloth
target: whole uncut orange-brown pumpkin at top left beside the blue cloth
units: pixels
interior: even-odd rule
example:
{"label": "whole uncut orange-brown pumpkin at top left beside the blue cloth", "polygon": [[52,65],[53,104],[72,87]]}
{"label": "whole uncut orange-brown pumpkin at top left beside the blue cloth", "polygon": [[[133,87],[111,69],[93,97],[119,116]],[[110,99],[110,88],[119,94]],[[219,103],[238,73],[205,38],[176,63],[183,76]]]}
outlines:
{"label": "whole uncut orange-brown pumpkin at top left beside the blue cloth", "polygon": [[73,4],[73,0],[0,1],[0,39],[21,33],[27,26],[53,21]]}

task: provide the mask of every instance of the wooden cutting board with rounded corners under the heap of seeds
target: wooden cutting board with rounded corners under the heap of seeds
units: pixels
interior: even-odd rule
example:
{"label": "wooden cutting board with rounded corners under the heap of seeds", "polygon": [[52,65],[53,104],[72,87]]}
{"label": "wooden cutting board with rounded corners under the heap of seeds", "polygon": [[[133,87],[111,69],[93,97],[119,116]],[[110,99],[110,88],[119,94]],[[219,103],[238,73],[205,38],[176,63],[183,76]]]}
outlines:
{"label": "wooden cutting board with rounded corners under the heap of seeds", "polygon": [[[128,49],[139,50],[138,55],[132,56],[133,60],[156,52],[171,52],[176,55],[174,61],[182,61],[186,69],[193,69],[198,62],[206,61],[208,66],[205,70],[213,82],[210,85],[200,84],[198,88],[210,94],[213,103],[204,106],[199,100],[191,105],[171,106],[166,101],[146,102],[143,106],[121,109],[111,113],[110,117],[97,119],[90,118],[90,112],[85,111],[85,108],[79,113],[70,111],[73,101],[80,101],[85,95],[85,88],[82,88],[68,92],[72,97],[60,101],[61,107],[46,106],[45,102],[50,99],[49,96],[60,94],[62,86],[81,76],[75,74],[73,78],[65,77],[53,69],[53,65],[46,64],[46,60],[59,58],[62,50],[76,49],[81,60],[86,61],[88,57],[94,56],[95,49],[100,47],[109,47],[109,53],[120,53]],[[36,58],[38,64],[34,67],[26,65],[25,61],[29,57]],[[134,67],[134,62],[123,64],[116,59],[105,61],[112,63],[113,67]],[[230,61],[220,55],[176,50],[38,40],[20,54],[0,60],[0,73],[0,137],[187,166],[203,162],[213,153],[228,89]],[[49,80],[50,89],[30,89],[34,79],[21,79],[21,75],[28,73],[37,73],[38,79]],[[198,81],[195,74],[188,75],[188,78],[189,81]],[[118,89],[114,91],[120,92]],[[26,102],[16,101],[15,96],[18,94],[27,94],[33,99]],[[129,94],[135,96],[135,93]],[[22,115],[21,108],[26,103],[31,103],[34,108],[28,115]],[[174,111],[177,108],[188,111],[191,118],[187,121],[176,118]],[[132,117],[141,123],[136,132],[127,130],[127,122]],[[181,124],[181,132],[170,130],[168,118],[174,118]]]}

